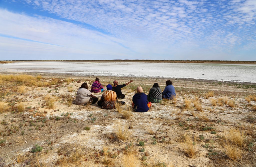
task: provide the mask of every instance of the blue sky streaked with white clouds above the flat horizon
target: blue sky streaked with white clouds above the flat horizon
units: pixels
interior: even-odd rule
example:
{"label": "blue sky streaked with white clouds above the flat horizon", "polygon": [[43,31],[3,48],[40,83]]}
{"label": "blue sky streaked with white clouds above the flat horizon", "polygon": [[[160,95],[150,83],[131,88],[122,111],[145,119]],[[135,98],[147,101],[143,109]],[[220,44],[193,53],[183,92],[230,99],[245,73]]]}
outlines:
{"label": "blue sky streaked with white clouds above the flat horizon", "polygon": [[256,60],[256,0],[0,0],[0,60]]}

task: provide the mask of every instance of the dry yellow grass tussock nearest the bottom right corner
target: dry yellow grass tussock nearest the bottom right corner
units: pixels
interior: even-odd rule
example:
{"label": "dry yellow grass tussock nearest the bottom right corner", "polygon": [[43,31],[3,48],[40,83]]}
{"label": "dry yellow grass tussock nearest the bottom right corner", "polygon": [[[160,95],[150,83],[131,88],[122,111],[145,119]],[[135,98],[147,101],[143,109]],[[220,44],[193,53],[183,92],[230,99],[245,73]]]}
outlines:
{"label": "dry yellow grass tussock nearest the bottom right corner", "polygon": [[225,153],[227,154],[227,156],[233,161],[242,158],[242,150],[240,149],[240,147],[237,147],[237,145],[228,143],[225,146],[225,150],[226,150]]}

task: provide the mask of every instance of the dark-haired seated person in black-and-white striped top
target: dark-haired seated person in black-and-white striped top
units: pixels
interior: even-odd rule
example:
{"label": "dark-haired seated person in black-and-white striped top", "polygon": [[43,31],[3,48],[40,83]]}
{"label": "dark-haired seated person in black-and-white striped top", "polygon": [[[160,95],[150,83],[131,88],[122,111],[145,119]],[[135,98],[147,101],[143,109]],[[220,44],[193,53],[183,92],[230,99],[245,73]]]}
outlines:
{"label": "dark-haired seated person in black-and-white striped top", "polygon": [[153,87],[149,90],[147,100],[152,103],[162,103],[162,90],[159,88],[158,83],[154,83]]}

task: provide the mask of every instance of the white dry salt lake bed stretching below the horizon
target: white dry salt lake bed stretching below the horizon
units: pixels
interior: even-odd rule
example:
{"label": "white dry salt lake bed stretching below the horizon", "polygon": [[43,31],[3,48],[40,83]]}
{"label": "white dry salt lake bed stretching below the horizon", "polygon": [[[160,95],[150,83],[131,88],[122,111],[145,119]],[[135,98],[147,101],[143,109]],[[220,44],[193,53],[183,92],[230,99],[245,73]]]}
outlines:
{"label": "white dry salt lake bed stretching below the horizon", "polygon": [[24,61],[0,64],[0,72],[51,72],[78,76],[165,77],[256,82],[255,64]]}

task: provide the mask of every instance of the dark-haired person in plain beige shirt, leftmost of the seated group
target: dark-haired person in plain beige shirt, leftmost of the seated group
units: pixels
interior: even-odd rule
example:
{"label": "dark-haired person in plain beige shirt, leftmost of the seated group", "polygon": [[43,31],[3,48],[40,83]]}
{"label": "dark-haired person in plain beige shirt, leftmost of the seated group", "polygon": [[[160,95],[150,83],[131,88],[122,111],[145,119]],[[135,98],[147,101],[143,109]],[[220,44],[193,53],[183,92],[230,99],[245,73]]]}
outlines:
{"label": "dark-haired person in plain beige shirt, leftmost of the seated group", "polygon": [[86,103],[94,104],[98,101],[98,97],[93,96],[92,93],[88,90],[88,85],[86,82],[82,83],[81,87],[77,90],[76,104],[77,105],[86,105]]}

